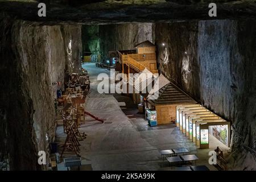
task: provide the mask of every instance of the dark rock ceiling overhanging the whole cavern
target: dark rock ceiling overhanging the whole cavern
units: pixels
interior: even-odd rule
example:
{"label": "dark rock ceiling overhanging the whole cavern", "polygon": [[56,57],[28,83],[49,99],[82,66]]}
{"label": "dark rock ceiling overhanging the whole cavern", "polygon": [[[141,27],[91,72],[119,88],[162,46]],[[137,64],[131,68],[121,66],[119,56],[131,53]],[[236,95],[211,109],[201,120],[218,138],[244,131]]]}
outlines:
{"label": "dark rock ceiling overhanging the whole cavern", "polygon": [[[38,3],[46,3],[46,17]],[[217,16],[208,15],[209,3]],[[123,22],[181,22],[207,19],[256,19],[256,1],[228,0],[0,0],[0,11],[42,24],[109,24]]]}

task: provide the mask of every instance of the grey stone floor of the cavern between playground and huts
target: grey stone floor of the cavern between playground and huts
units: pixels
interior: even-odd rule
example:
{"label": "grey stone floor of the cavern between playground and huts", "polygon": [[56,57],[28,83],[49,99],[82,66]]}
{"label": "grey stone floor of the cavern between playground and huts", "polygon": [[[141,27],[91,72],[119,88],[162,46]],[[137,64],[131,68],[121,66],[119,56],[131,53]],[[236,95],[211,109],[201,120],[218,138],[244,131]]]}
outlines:
{"label": "grey stone floor of the cavern between playground and huts", "polygon": [[[81,124],[80,132],[87,134],[86,139],[80,141],[82,164],[90,164],[93,171],[170,171],[176,170],[176,167],[170,167],[166,159],[161,159],[160,150],[185,147],[190,154],[198,156],[197,165],[217,170],[208,163],[209,151],[220,144],[217,139],[210,138],[210,148],[198,150],[174,124],[148,126],[144,114],[138,113],[137,105],[130,97],[98,93],[97,88],[101,82],[97,78],[98,75],[110,75],[110,71],[97,68],[95,63],[86,63],[82,67],[88,70],[92,89],[86,111],[105,121],[100,123],[86,116],[85,122]],[[119,104],[123,106],[120,108]],[[61,107],[58,113],[60,125],[56,131],[56,142],[61,151],[66,137],[63,133]],[[64,158],[72,155],[64,152]]]}

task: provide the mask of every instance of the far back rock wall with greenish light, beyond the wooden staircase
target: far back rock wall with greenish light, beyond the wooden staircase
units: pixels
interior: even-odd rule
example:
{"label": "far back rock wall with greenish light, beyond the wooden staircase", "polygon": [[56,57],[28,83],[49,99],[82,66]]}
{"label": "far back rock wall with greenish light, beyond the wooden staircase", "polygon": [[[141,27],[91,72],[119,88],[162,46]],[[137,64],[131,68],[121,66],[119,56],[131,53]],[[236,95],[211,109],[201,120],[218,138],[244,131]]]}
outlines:
{"label": "far back rock wall with greenish light, beyond the wooden staircase", "polygon": [[109,24],[99,27],[100,49],[103,57],[109,51],[135,49],[135,45],[146,40],[155,43],[154,23]]}

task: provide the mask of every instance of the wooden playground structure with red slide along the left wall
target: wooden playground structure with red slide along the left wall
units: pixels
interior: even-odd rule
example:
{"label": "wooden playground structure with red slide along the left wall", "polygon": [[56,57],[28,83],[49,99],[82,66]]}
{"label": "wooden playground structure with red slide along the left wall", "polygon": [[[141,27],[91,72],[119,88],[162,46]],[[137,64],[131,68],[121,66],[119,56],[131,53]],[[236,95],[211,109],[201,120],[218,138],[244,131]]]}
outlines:
{"label": "wooden playground structure with red slide along the left wall", "polygon": [[79,131],[79,127],[82,123],[85,123],[85,115],[96,119],[101,123],[104,119],[98,118],[93,114],[85,111],[85,104],[90,97],[90,82],[89,76],[79,76],[73,73],[68,83],[68,88],[64,95],[58,99],[58,104],[63,105],[63,129],[67,134],[63,150],[60,158],[62,158],[64,152],[71,152],[80,156],[80,141],[86,138],[85,133]]}

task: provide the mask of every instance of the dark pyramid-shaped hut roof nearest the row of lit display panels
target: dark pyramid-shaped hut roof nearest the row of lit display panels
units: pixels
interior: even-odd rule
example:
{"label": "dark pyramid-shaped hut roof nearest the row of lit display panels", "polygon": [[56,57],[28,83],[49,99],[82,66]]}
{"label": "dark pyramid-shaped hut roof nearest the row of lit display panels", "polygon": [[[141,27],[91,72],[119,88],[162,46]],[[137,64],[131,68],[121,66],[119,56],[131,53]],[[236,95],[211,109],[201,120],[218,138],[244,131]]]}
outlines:
{"label": "dark pyramid-shaped hut roof nearest the row of lit display panels", "polygon": [[148,95],[147,100],[152,105],[197,103],[182,90],[172,84],[172,82],[169,82],[167,85],[160,88],[158,94]]}

